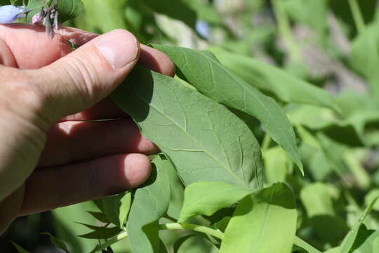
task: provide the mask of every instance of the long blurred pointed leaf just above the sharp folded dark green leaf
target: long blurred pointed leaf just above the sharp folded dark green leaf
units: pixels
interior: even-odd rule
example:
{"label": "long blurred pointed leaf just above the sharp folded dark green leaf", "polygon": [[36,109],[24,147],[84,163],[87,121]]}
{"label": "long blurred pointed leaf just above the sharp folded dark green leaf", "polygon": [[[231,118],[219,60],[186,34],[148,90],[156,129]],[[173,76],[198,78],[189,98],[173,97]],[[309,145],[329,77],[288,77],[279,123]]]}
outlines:
{"label": "long blurred pointed leaf just above the sharp folded dark green leaf", "polygon": [[334,98],[323,89],[293,77],[284,70],[251,57],[239,56],[222,49],[211,49],[228,70],[248,84],[273,93],[286,103],[305,103],[339,111]]}

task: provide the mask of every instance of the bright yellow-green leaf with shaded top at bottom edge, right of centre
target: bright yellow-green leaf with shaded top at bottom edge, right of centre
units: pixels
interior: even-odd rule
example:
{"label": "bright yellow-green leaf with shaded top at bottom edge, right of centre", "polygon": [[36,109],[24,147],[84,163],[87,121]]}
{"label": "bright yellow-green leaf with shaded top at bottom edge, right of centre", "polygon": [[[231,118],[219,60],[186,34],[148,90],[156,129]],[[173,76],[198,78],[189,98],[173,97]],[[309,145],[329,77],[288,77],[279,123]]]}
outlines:
{"label": "bright yellow-green leaf with shaded top at bottom edge, right of centre", "polygon": [[220,253],[290,253],[296,218],[295,197],[284,183],[248,195],[237,205]]}

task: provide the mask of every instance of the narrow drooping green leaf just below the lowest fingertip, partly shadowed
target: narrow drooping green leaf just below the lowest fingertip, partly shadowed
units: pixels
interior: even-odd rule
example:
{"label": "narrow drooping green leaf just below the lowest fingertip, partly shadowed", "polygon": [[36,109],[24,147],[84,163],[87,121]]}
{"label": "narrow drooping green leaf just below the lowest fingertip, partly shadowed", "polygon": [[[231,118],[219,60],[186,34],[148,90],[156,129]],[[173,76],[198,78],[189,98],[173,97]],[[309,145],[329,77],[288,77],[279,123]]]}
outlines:
{"label": "narrow drooping green leaf just below the lowest fingertip, partly shadowed", "polygon": [[126,230],[134,253],[159,252],[159,219],[166,214],[170,202],[170,184],[165,170],[168,160],[157,156],[152,161],[152,174],[135,190]]}

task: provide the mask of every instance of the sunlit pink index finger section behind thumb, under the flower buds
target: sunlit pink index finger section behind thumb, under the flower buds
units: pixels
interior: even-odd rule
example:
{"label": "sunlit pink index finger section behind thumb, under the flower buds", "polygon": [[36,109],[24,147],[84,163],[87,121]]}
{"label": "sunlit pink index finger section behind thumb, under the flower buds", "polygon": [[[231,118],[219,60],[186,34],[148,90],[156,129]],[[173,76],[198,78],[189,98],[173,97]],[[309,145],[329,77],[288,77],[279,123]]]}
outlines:
{"label": "sunlit pink index finger section behind thumb, under the flower buds", "polygon": [[67,41],[81,46],[95,37],[98,37],[98,34],[62,27],[54,39],[48,39],[44,27],[21,23],[0,25],[0,40],[11,51],[11,54],[6,56],[13,58],[13,63],[7,62],[4,65],[21,69],[36,69],[49,65],[72,52]]}

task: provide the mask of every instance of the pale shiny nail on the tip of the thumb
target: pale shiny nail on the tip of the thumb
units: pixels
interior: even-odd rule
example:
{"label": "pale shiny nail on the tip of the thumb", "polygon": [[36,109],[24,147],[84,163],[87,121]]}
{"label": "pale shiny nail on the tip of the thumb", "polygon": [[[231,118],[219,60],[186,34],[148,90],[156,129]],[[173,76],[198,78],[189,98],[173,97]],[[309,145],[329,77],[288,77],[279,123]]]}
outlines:
{"label": "pale shiny nail on the tip of the thumb", "polygon": [[133,63],[138,57],[138,41],[125,30],[104,34],[95,45],[115,70]]}

